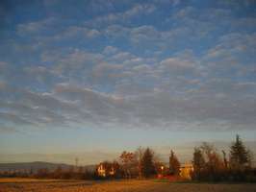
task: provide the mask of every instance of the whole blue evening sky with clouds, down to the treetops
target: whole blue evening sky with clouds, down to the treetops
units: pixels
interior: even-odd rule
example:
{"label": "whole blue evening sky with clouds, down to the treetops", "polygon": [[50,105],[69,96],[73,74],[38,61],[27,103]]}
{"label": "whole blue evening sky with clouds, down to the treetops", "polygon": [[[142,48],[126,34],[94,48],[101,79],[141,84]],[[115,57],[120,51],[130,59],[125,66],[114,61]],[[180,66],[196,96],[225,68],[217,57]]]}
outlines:
{"label": "whole blue evening sky with clouds, down to the treetops", "polygon": [[256,149],[254,0],[2,0],[0,42],[0,162]]}

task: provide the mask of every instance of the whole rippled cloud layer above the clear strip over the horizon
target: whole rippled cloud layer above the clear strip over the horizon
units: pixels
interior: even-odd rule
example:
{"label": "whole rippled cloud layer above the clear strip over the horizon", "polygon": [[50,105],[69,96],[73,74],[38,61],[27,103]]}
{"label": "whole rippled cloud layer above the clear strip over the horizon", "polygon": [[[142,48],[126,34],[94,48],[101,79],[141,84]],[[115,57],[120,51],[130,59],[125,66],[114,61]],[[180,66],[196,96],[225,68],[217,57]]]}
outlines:
{"label": "whole rippled cloud layer above the clear strip over the horizon", "polygon": [[65,4],[66,15],[44,2],[40,19],[10,20],[0,48],[4,128],[253,129],[252,12],[99,2]]}

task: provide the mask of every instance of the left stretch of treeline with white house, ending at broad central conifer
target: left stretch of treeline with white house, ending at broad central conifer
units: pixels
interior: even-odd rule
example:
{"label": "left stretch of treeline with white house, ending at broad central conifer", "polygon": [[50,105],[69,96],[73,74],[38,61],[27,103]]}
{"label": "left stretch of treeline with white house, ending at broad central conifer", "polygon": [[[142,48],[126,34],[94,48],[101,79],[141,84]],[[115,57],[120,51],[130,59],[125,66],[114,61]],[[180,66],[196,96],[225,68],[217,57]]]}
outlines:
{"label": "left stretch of treeline with white house, ending at broad central conifer", "polygon": [[[12,171],[0,173],[0,177],[19,177],[35,179],[61,179],[61,180],[109,180],[109,179],[135,179],[150,178],[157,173],[157,160],[154,152],[139,148],[136,152],[123,152],[118,161],[103,161],[94,169],[70,166],[63,169],[61,166],[55,170],[47,168],[31,170],[30,172]],[[104,174],[99,172],[102,167]]]}

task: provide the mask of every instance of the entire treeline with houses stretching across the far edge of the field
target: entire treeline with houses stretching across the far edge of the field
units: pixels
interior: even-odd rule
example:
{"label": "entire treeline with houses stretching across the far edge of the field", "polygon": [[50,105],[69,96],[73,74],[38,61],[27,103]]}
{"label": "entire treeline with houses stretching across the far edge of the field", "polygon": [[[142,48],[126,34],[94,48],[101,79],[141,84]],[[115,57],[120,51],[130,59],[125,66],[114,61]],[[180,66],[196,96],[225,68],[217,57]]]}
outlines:
{"label": "entire treeline with houses stretching across the far edge of the field", "polygon": [[28,177],[62,180],[148,179],[197,181],[256,181],[256,169],[252,167],[252,153],[237,135],[228,152],[218,150],[204,142],[195,147],[192,163],[181,165],[170,151],[168,163],[161,160],[150,148],[138,148],[135,152],[122,152],[115,161],[103,161],[94,169],[71,166],[68,170],[58,167],[54,171],[39,169],[37,173],[2,173],[0,177]]}

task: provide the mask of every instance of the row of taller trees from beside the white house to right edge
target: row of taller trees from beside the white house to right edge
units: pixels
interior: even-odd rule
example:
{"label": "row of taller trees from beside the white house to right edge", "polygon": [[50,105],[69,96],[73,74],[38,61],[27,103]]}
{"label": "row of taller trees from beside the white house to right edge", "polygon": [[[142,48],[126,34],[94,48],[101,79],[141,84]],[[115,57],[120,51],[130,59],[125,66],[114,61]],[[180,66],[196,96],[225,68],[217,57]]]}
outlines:
{"label": "row of taller trees from beside the white house to right edge", "polygon": [[[135,153],[123,152],[119,157],[118,178],[181,175],[181,164],[173,151],[170,152],[168,166],[149,148],[139,148]],[[252,157],[239,135],[230,146],[229,153],[221,151],[219,154],[213,145],[203,142],[194,148],[190,175],[192,180],[199,181],[256,181]]]}

